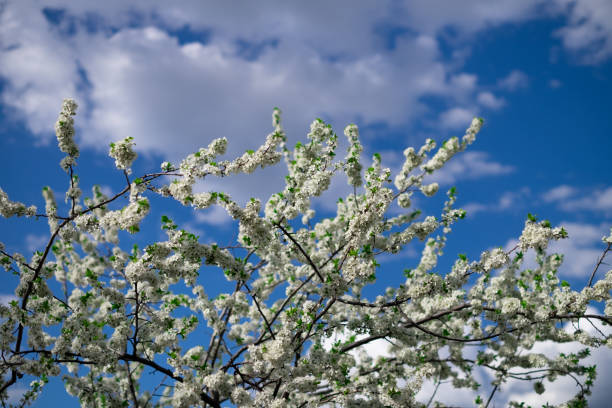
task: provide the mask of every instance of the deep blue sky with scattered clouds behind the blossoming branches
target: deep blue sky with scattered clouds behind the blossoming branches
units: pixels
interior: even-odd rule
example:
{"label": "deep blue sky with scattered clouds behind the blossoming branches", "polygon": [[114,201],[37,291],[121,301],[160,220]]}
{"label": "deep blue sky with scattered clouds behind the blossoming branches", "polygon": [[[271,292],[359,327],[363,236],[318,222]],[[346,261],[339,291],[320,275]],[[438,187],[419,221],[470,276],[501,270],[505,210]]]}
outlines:
{"label": "deep blue sky with scattered clouds behind the blossoming branches", "polygon": [[[605,0],[8,1],[0,6],[0,186],[13,200],[44,207],[40,190],[49,185],[61,201],[68,180],[53,124],[68,96],[80,105],[86,192],[93,184],[122,187],[109,142],[134,137],[135,174],[177,163],[221,136],[231,157],[263,142],[275,106],[291,144],[316,117],[339,134],[354,122],[364,159],[379,152],[395,170],[405,147],[461,136],[482,116],[476,143],[436,176],[441,193],[415,200],[435,215],[442,191],[456,186],[457,205],[468,211],[440,269],[457,253],[511,246],[531,212],[568,230],[552,250],[566,254],[563,278],[582,287],[612,226],[611,74],[612,3]],[[242,202],[266,199],[282,187],[279,169],[199,188]],[[320,214],[348,192],[344,184],[337,180],[316,202]],[[163,239],[164,211],[204,241],[233,236],[220,211],[194,214],[156,200],[138,242]],[[10,251],[26,254],[48,236],[44,220],[2,219],[0,230]],[[379,277],[376,288],[399,281],[394,273],[418,261],[419,245],[386,261],[389,278]],[[13,282],[0,279],[7,301]],[[598,353],[612,365],[609,350]],[[609,375],[601,364],[594,406],[604,406]],[[560,384],[551,389],[562,394],[569,383]],[[496,403],[521,394],[541,401],[508,384]],[[37,406],[78,405],[57,384],[42,398]]]}

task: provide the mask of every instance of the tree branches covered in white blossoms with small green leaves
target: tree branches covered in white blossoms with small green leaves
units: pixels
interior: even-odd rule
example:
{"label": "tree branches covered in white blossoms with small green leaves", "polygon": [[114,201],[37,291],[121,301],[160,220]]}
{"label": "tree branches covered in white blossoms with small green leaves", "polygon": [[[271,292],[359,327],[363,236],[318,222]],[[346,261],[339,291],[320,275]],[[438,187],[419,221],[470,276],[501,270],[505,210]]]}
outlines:
{"label": "tree branches covered in white blossoms with small green leaves", "polygon": [[[307,143],[288,149],[278,109],[264,144],[232,161],[216,159],[227,145],[217,139],[178,165],[165,162],[159,172],[133,177],[136,153],[128,138],[110,148],[126,185],[111,197],[95,187],[92,199],[82,199],[74,174],[76,108],[65,100],[55,126],[70,177],[67,212],[58,212],[47,187],[44,213],[0,190],[2,216],[45,217],[51,234],[30,258],[0,244],[0,263],[19,279],[17,300],[0,306],[4,404],[24,376],[34,381],[22,404],[61,375],[67,392],[90,407],[409,407],[419,406],[415,394],[426,379],[477,390],[473,371],[482,368],[493,374],[492,393],[474,393],[482,406],[510,378],[531,381],[542,393],[545,379],[563,376],[577,385],[569,404],[585,405],[595,378],[595,368],[581,363],[588,349],[555,357],[530,351],[545,340],[612,346],[603,331],[564,329],[578,319],[612,323],[612,271],[597,280],[596,269],[581,291],[560,282],[563,255],[546,249],[567,236],[563,228],[529,216],[511,251],[484,251],[474,260],[460,255],[447,273],[432,272],[465,212],[453,208],[454,188],[439,217],[420,220],[411,197],[436,194],[438,185],[423,184],[424,177],[474,142],[482,120],[435,153],[433,140],[406,149],[393,179],[379,155],[362,167],[355,125],[344,130],[350,147],[343,159],[336,134],[321,120],[312,123]],[[259,199],[243,208],[223,192],[193,191],[207,176],[251,173],[281,159],[286,185],[263,209]],[[334,217],[314,223],[311,199],[338,173],[346,173],[354,193],[338,201]],[[200,243],[163,216],[167,240],[122,249],[118,231],[139,231],[154,194],[198,210],[223,207],[238,221],[237,242]],[[123,207],[111,210],[111,203]],[[390,214],[394,203],[399,215]],[[376,280],[377,257],[415,239],[426,245],[418,265],[404,270],[405,283],[363,297]],[[607,251],[612,235],[603,240]],[[536,253],[535,269],[522,268],[526,251]],[[210,298],[214,273],[234,290]],[[592,302],[605,302],[604,313],[588,313]],[[208,327],[207,344],[194,338],[199,326]],[[390,344],[384,358],[363,351],[378,339]],[[467,345],[476,346],[476,357]]]}

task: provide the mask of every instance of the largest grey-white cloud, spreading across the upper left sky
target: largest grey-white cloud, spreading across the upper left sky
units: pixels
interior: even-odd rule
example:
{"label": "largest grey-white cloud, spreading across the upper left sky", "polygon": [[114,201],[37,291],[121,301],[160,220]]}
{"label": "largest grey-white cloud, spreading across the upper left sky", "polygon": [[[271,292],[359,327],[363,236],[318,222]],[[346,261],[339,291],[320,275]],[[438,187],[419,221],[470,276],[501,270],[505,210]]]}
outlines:
{"label": "largest grey-white cloud, spreading across the upper left sky", "polygon": [[[23,3],[6,5],[0,31],[3,102],[41,140],[52,138],[65,96],[81,105],[77,135],[86,145],[133,136],[141,152],[176,160],[219,136],[230,138],[232,153],[258,145],[271,130],[274,106],[284,110],[290,138],[302,137],[320,115],[340,128],[357,119],[399,126],[424,112],[422,96],[467,97],[475,81],[439,61],[435,37],[402,36],[393,50],[381,49],[375,30],[366,27],[394,15],[374,4],[326,13],[312,4],[275,5],[274,12],[253,6],[249,14],[249,7],[142,2],[130,6],[142,15],[142,27],[127,25],[120,2],[48,5],[66,8],[64,18],[76,27],[72,36]],[[98,31],[85,29],[88,12],[99,14]],[[156,13],[163,24],[150,17]],[[210,29],[210,42],[179,44],[165,31],[184,24]],[[276,45],[257,59],[238,52],[238,40],[268,38]]]}

